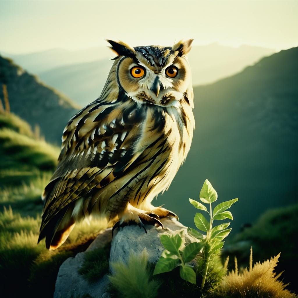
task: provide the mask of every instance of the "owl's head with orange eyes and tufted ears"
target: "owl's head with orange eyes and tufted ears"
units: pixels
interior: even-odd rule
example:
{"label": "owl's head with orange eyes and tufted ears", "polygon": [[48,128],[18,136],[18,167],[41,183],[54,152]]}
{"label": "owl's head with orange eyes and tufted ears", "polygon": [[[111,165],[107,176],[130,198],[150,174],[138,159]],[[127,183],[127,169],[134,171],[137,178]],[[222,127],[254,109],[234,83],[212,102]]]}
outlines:
{"label": "owl's head with orange eyes and tufted ears", "polygon": [[188,88],[191,72],[187,54],[193,39],[172,47],[137,46],[108,40],[117,53],[116,80],[120,90],[137,103],[177,106]]}

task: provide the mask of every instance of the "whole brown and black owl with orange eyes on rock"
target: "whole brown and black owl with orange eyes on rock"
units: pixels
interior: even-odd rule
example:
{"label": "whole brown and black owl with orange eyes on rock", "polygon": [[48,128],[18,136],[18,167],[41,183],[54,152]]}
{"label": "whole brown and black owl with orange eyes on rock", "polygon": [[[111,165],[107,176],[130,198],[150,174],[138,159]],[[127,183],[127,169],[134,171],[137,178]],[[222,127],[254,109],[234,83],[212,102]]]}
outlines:
{"label": "whole brown and black owl with orange eyes on rock", "polygon": [[63,131],[58,166],[42,194],[38,242],[46,238],[48,249],[58,248],[90,215],[144,229],[177,217],[151,202],[168,189],[190,150],[192,41],[133,48],[108,40],[117,56],[100,97]]}

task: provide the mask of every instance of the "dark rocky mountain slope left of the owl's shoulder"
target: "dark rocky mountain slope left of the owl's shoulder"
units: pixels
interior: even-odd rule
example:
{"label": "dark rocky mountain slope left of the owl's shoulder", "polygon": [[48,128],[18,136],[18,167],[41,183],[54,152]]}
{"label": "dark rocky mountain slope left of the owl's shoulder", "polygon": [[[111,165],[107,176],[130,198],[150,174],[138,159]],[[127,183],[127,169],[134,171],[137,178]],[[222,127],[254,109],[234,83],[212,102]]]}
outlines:
{"label": "dark rocky mountain slope left of the owl's shoulder", "polygon": [[11,111],[33,128],[38,124],[46,140],[60,145],[63,128],[79,107],[12,60],[0,56],[0,98],[3,100],[2,84],[7,85]]}

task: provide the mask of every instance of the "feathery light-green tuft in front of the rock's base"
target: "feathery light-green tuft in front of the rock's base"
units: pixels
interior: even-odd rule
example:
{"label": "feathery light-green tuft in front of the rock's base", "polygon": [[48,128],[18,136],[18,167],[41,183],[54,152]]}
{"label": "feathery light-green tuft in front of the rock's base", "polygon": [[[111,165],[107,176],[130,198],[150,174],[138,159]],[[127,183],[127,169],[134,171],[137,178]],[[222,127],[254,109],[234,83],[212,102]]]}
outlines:
{"label": "feathery light-green tuft in front of the rock's base", "polygon": [[111,263],[112,275],[109,279],[119,297],[124,298],[154,298],[160,283],[151,279],[148,266],[148,253],[144,249],[141,254],[131,253],[127,263],[119,261]]}

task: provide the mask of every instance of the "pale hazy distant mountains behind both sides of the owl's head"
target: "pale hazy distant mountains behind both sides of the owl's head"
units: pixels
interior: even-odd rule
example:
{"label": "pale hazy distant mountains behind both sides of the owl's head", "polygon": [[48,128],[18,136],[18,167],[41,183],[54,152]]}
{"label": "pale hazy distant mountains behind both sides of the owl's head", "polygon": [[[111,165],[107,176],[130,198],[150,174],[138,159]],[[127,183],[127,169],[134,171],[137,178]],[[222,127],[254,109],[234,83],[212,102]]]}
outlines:
{"label": "pale hazy distant mountains behind both sides of the owl's head", "polygon": [[[233,75],[273,52],[273,49],[245,45],[238,48],[217,43],[193,46],[189,54],[193,85]],[[76,103],[86,105],[100,95],[113,55],[108,47],[99,47],[73,52],[55,49],[10,57]]]}

